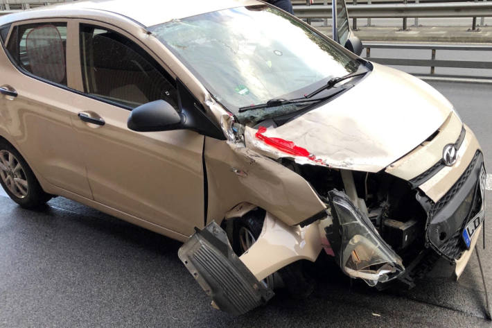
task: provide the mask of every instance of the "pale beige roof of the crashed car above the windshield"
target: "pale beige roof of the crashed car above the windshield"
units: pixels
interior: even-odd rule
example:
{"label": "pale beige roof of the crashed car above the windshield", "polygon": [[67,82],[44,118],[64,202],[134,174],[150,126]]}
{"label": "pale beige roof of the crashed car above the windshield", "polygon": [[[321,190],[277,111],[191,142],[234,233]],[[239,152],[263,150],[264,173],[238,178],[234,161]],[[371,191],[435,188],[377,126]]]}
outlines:
{"label": "pale beige roof of the crashed car above the windshield", "polygon": [[128,17],[148,27],[205,12],[255,4],[261,2],[256,0],[82,0],[6,15],[0,17],[0,25],[41,17],[66,17],[71,12],[78,14],[82,12],[80,17],[83,17],[84,10],[99,10]]}

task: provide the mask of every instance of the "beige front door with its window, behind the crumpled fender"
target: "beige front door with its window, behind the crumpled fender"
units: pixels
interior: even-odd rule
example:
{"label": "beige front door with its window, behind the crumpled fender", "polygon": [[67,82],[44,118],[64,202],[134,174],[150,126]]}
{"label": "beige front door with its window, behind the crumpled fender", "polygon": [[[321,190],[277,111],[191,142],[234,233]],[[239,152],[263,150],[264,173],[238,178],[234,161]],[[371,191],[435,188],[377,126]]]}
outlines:
{"label": "beige front door with its window, behind the crumpled fender", "polygon": [[134,132],[134,107],[164,99],[175,81],[123,31],[80,24],[85,96],[78,96],[81,151],[94,200],[190,235],[204,225],[204,136],[189,130]]}

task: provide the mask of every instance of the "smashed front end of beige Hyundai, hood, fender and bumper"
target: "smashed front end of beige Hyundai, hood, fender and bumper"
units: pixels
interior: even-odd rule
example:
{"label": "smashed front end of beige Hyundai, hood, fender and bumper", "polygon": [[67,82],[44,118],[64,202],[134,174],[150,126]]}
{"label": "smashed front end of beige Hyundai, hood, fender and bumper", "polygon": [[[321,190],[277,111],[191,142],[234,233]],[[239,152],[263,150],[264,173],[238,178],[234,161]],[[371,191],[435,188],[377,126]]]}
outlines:
{"label": "smashed front end of beige Hyundai, hood, fender and bumper", "polygon": [[[361,84],[371,79],[385,82],[373,72]],[[404,83],[395,94],[422,99],[420,114],[395,112],[391,101],[380,102],[377,115],[362,106],[347,112],[337,98],[329,110],[288,123],[250,127],[230,113],[216,115],[228,140],[205,143],[207,226],[179,250],[214,307],[240,315],[264,304],[273,295],[267,277],[297,261],[315,262],[321,252],[348,277],[378,289],[412,288],[439,257],[455,264],[459,277],[483,221],[483,156],[451,105],[419,83],[413,96]],[[450,143],[458,162],[441,166]],[[229,223],[256,208],[265,213],[263,229],[238,256],[226,237]],[[463,229],[477,218],[467,245]],[[451,246],[458,248],[453,254]]]}

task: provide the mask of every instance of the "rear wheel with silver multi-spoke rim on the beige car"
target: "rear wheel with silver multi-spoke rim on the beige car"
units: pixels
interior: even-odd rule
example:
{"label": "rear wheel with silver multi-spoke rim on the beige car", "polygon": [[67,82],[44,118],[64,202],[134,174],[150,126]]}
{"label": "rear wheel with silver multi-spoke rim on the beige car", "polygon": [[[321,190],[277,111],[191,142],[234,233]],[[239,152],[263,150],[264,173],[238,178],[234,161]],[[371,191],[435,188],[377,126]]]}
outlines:
{"label": "rear wheel with silver multi-spoke rim on the beige car", "polygon": [[25,209],[41,207],[51,199],[24,157],[5,140],[0,140],[0,184],[12,200]]}

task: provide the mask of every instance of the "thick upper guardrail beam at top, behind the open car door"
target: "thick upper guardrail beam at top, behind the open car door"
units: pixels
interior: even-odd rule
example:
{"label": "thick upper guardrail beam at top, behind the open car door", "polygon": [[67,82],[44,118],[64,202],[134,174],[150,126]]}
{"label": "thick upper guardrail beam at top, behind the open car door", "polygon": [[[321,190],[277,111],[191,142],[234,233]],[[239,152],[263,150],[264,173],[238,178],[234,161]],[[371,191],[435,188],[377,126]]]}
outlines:
{"label": "thick upper guardrail beam at top, behind the open car door", "polygon": [[[347,5],[351,18],[492,17],[492,2]],[[299,18],[330,18],[331,6],[295,6]]]}

